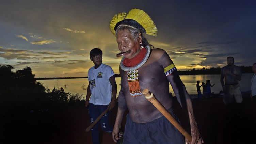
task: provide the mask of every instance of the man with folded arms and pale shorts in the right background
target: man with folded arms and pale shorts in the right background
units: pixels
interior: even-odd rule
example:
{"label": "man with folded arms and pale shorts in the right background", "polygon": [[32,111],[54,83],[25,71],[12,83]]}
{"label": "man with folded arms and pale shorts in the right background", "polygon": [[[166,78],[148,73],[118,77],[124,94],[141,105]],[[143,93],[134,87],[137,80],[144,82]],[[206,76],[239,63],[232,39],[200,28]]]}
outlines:
{"label": "man with folded arms and pale shorts in the right background", "polygon": [[[223,102],[227,106],[229,111],[229,121],[233,119],[232,114],[232,103],[233,103],[233,97],[236,100],[237,103],[237,115],[242,119],[242,101],[243,97],[240,91],[240,86],[238,84],[238,81],[242,78],[242,71],[239,66],[234,65],[234,58],[233,57],[227,57],[227,66],[224,66],[221,69],[221,76],[220,76],[220,82],[222,86],[222,90],[224,92]],[[224,79],[225,78],[225,84]]]}

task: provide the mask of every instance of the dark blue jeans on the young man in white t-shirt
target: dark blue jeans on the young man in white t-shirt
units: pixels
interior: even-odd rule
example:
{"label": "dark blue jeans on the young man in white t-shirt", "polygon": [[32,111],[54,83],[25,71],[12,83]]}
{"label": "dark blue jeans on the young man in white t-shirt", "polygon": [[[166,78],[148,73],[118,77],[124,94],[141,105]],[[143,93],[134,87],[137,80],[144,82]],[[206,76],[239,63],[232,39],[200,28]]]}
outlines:
{"label": "dark blue jeans on the young man in white t-shirt", "polygon": [[[88,109],[91,123],[93,123],[95,119],[98,118],[99,115],[103,113],[107,108],[108,105],[94,105],[89,103]],[[109,111],[91,129],[93,144],[99,144],[99,124],[103,131],[108,133],[112,132],[113,127],[109,125]]]}

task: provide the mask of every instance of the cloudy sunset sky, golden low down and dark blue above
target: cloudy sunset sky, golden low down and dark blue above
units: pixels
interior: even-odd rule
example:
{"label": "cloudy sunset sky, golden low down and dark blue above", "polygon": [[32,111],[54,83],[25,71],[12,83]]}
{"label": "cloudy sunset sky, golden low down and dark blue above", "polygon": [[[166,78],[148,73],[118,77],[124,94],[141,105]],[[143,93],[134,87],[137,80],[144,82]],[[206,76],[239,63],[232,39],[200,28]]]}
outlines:
{"label": "cloudy sunset sky, golden low down and dark blue above", "polygon": [[85,77],[89,52],[119,74],[111,18],[144,10],[158,36],[146,37],[169,53],[178,70],[256,62],[256,2],[210,0],[0,0],[0,65],[31,67],[36,77]]}

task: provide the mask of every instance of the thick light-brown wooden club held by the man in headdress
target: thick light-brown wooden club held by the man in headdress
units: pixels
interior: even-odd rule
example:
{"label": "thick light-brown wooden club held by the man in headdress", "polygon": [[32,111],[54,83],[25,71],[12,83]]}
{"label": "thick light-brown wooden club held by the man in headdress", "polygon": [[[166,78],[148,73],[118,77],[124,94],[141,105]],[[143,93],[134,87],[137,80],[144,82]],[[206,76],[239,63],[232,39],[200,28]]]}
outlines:
{"label": "thick light-brown wooden club held by the man in headdress", "polygon": [[184,135],[190,142],[192,141],[191,135],[181,127],[175,118],[163,107],[163,105],[156,99],[153,93],[150,93],[148,89],[144,89],[142,94],[145,95],[146,99],[150,101],[167,119],[173,124],[178,131]]}

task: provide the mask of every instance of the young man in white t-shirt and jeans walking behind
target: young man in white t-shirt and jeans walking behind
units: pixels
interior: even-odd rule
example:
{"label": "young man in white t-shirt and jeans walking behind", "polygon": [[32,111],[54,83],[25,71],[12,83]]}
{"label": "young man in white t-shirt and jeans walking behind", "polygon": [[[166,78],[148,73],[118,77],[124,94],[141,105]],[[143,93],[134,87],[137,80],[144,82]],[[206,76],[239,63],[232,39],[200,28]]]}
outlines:
{"label": "young man in white t-shirt and jeans walking behind", "polygon": [[[102,51],[99,48],[90,51],[90,59],[94,66],[88,70],[89,84],[85,107],[88,106],[91,123],[93,123],[108,107],[110,110],[115,107],[117,86],[114,71],[110,66],[102,63]],[[100,119],[99,123],[102,130],[112,132],[113,127],[109,125],[109,112]],[[91,129],[93,144],[100,143],[99,123]]]}

